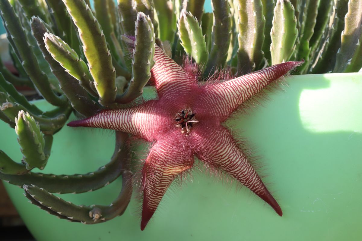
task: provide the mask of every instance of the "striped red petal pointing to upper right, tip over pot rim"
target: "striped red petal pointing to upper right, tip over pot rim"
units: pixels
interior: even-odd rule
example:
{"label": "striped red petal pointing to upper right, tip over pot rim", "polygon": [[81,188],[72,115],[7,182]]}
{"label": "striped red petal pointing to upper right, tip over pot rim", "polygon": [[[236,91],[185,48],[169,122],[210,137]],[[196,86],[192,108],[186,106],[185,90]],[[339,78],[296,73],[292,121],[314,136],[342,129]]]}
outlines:
{"label": "striped red petal pointing to upper right, tip over pot rim", "polygon": [[199,108],[209,110],[211,116],[225,121],[240,104],[302,63],[290,61],[276,64],[235,79],[206,85],[196,103]]}

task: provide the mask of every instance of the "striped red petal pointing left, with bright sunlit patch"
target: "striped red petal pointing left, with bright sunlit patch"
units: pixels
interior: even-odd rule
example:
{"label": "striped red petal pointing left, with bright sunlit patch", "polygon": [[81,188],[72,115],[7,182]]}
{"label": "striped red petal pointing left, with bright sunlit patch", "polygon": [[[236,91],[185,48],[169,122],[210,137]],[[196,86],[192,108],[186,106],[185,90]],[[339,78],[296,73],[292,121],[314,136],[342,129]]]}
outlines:
{"label": "striped red petal pointing left, with bright sunlit patch", "polygon": [[164,109],[157,108],[157,101],[150,100],[140,106],[127,109],[104,110],[83,120],[71,121],[67,125],[118,130],[146,141],[155,141],[163,126],[172,125]]}

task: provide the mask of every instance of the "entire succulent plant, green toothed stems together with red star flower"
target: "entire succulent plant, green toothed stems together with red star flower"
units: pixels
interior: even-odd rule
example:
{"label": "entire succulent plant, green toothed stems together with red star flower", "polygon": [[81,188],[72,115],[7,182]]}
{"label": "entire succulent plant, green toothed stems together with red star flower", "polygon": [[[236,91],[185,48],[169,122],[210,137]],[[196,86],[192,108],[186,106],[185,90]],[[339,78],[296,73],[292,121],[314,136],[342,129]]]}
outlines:
{"label": "entire succulent plant, green toothed stems together with red star flower", "polygon": [[[142,229],[172,180],[192,166],[194,154],[235,177],[281,215],[220,122],[295,67],[304,74],[361,69],[362,3],[212,0],[213,13],[204,13],[204,2],[118,0],[117,6],[113,0],[94,0],[92,9],[89,0],[0,0],[17,69],[14,75],[0,61],[0,119],[15,128],[23,154],[22,161],[15,162],[0,151],[0,179],[21,186],[31,203],[59,218],[87,224],[107,221],[123,214],[132,194],[136,177],[130,168],[130,133],[154,143],[140,171]],[[181,68],[178,64],[185,58]],[[304,63],[297,61],[302,59]],[[247,75],[234,78],[241,74]],[[208,84],[210,76],[223,79]],[[155,85],[159,99],[139,104],[146,85]],[[17,91],[18,86],[35,89],[55,108],[42,111]],[[51,159],[53,135],[72,112],[85,119],[71,126],[115,130],[109,164],[83,175],[33,172]],[[158,120],[153,112],[168,117],[176,112],[175,120]],[[209,123],[218,130],[214,135],[207,136],[213,132],[205,126],[206,117],[216,123]],[[162,131],[157,134],[155,128]],[[171,129],[174,133],[167,132]],[[193,138],[196,134],[202,138]],[[206,144],[210,142],[215,145]],[[183,143],[189,148],[181,148]],[[223,158],[217,158],[223,154],[217,153],[220,143],[228,150]],[[180,160],[171,161],[171,156]],[[160,161],[153,162],[157,158]],[[171,169],[159,168],[166,164]],[[240,168],[244,171],[238,172]],[[51,194],[97,190],[121,175],[122,190],[109,206],[77,206]]]}

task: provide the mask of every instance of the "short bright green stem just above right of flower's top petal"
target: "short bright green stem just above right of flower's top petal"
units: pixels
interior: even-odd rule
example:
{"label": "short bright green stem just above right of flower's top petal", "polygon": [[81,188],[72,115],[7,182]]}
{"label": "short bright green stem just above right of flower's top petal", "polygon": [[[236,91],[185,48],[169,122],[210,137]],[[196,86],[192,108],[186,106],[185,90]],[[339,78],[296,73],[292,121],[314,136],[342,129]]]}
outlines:
{"label": "short bright green stem just above right of flower's top petal", "polygon": [[177,28],[182,47],[200,65],[201,72],[203,72],[209,51],[206,48],[205,35],[202,35],[201,25],[191,13],[182,10]]}

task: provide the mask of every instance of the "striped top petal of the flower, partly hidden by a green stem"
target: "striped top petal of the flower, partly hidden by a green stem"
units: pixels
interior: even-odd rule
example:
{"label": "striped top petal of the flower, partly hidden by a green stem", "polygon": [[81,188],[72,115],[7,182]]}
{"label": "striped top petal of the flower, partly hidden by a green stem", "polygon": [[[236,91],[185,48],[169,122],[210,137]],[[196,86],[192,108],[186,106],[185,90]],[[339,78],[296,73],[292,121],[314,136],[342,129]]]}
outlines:
{"label": "striped top petal of the flower, partly hidden by a green stem", "polygon": [[153,60],[155,65],[151,69],[151,82],[155,83],[159,98],[164,98],[169,106],[177,110],[190,106],[191,91],[197,88],[195,78],[186,73],[158,46],[155,48]]}

